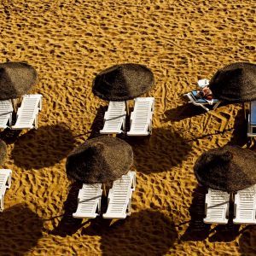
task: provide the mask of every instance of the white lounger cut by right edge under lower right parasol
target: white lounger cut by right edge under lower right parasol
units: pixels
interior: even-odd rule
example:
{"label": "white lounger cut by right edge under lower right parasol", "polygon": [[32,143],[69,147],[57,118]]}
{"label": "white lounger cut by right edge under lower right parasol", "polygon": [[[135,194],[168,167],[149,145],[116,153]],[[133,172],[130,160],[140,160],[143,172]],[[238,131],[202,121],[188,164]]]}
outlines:
{"label": "white lounger cut by right edge under lower right parasol", "polygon": [[256,186],[237,191],[235,195],[235,224],[256,224]]}

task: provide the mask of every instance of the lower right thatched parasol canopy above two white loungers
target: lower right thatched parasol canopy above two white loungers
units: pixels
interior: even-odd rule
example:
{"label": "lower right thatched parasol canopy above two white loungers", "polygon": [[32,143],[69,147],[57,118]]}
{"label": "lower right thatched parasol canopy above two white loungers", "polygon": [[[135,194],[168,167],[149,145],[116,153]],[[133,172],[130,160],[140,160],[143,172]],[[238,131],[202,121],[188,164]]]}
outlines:
{"label": "lower right thatched parasol canopy above two white loungers", "polygon": [[195,177],[202,185],[229,193],[256,183],[256,153],[239,146],[214,148],[195,162]]}

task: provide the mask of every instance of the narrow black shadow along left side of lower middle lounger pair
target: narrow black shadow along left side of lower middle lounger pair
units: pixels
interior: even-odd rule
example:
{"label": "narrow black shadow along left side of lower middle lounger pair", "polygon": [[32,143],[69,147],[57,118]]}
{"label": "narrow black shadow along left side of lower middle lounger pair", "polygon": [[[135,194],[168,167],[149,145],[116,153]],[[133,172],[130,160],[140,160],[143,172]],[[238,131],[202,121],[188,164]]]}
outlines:
{"label": "narrow black shadow along left side of lower middle lounger pair", "polygon": [[67,200],[64,202],[64,214],[54,230],[49,231],[50,235],[62,237],[72,236],[84,226],[85,223],[82,224],[82,218],[73,218],[73,212],[76,212],[78,207],[78,195],[79,189],[81,188],[81,183],[76,182],[71,185]]}

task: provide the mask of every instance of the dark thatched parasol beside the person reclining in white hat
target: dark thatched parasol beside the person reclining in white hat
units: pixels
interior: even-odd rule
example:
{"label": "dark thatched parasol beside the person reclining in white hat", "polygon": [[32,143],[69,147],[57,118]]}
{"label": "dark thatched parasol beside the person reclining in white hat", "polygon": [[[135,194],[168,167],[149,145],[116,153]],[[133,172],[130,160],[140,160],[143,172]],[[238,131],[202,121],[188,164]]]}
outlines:
{"label": "dark thatched parasol beside the person reclining in white hat", "polygon": [[214,74],[210,89],[215,98],[228,102],[256,100],[256,65],[237,62],[223,67]]}

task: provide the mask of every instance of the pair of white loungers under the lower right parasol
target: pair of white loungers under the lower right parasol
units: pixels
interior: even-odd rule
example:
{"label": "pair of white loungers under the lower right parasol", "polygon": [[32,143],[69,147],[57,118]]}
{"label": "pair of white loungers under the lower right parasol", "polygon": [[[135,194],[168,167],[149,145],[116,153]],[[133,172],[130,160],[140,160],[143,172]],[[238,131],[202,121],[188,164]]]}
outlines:
{"label": "pair of white loungers under the lower right parasol", "polygon": [[[237,191],[235,195],[234,224],[256,224],[256,185]],[[229,220],[230,194],[208,189],[206,195],[207,224],[227,224]]]}

